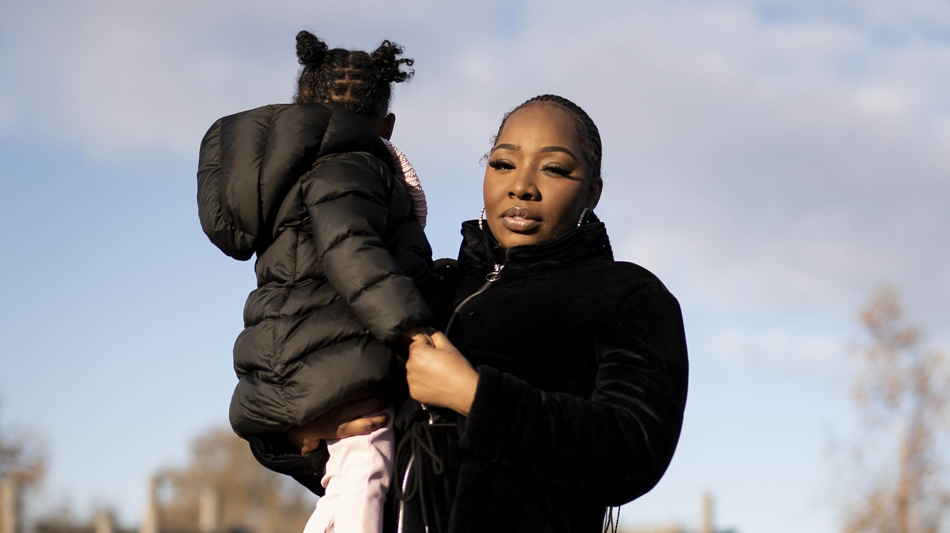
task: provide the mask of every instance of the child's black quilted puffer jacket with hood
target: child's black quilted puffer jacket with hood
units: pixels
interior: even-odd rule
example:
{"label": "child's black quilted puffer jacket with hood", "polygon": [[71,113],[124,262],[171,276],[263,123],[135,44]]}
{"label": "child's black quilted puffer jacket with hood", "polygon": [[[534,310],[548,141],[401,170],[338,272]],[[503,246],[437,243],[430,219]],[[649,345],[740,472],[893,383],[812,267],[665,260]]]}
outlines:
{"label": "child's black quilted puffer jacket with hood", "polygon": [[234,348],[231,425],[301,425],[390,376],[385,342],[430,319],[413,282],[432,252],[386,146],[336,105],[265,105],[201,142],[199,218],[225,254],[257,254]]}

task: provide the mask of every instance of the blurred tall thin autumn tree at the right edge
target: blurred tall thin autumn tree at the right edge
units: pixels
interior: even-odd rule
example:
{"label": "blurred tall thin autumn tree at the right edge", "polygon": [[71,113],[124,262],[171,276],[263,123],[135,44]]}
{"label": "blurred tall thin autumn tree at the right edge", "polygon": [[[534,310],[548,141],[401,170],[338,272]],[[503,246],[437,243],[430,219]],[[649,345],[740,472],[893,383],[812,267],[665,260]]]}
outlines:
{"label": "blurred tall thin autumn tree at the right edge", "polygon": [[[855,351],[854,392],[868,435],[853,456],[864,483],[853,495],[845,533],[946,531],[950,492],[940,478],[940,431],[950,402],[946,357],[921,348],[921,333],[904,323],[892,289],[870,299],[861,322],[869,342]],[[883,447],[870,447],[882,439]]]}

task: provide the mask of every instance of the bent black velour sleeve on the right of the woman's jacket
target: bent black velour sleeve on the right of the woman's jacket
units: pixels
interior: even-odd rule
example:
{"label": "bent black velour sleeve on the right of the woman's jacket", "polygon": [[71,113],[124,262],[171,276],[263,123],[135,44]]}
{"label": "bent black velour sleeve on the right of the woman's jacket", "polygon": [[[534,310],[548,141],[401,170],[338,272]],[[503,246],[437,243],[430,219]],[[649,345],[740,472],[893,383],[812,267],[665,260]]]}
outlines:
{"label": "bent black velour sleeve on the right of the woman's jacket", "polygon": [[605,505],[649,491],[673,458],[686,405],[679,304],[661,284],[648,285],[628,296],[604,340],[589,398],[479,367],[459,446]]}

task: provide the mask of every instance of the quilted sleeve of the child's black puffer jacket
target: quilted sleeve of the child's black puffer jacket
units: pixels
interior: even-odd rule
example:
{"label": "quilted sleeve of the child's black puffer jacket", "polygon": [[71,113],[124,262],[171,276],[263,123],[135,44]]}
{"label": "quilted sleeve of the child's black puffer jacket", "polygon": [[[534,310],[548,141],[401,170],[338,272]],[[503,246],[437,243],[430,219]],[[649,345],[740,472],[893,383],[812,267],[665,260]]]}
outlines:
{"label": "quilted sleeve of the child's black puffer jacket", "polygon": [[384,240],[390,194],[381,172],[375,158],[347,152],[317,162],[302,186],[327,280],[373,336],[390,341],[431,313]]}

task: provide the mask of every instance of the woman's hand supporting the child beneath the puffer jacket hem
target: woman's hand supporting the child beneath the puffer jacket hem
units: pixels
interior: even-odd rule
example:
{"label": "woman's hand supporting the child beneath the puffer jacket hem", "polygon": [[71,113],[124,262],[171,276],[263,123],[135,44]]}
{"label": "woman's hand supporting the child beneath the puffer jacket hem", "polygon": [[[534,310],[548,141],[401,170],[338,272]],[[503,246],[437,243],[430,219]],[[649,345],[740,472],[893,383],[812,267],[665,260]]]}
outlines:
{"label": "woman's hand supporting the child beneath the puffer jacket hem", "polygon": [[383,401],[372,392],[365,392],[317,416],[303,426],[287,429],[287,439],[294,449],[300,450],[300,455],[306,455],[320,446],[321,440],[362,435],[386,426],[385,414],[367,416],[384,407]]}

